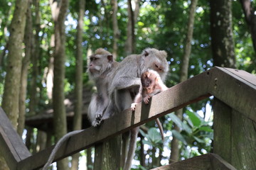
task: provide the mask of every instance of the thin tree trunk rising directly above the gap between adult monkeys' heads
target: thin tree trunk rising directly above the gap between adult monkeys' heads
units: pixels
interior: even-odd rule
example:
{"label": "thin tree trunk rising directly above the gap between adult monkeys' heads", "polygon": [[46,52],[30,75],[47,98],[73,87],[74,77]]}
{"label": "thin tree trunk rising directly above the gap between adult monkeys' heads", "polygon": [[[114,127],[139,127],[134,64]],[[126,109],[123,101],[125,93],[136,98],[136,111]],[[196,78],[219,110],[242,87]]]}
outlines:
{"label": "thin tree trunk rising directly above the gap between adult monkeys' heads", "polygon": [[118,23],[117,23],[117,1],[116,0],[111,0],[111,4],[112,4],[112,10],[113,10],[113,14],[112,14],[112,23],[113,23],[113,52],[112,55],[114,57],[114,60],[116,60],[117,58],[117,51],[118,51],[118,47],[117,47],[117,40],[119,39],[119,28],[118,28]]}

